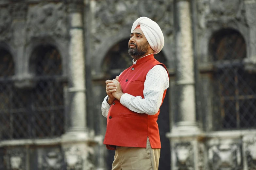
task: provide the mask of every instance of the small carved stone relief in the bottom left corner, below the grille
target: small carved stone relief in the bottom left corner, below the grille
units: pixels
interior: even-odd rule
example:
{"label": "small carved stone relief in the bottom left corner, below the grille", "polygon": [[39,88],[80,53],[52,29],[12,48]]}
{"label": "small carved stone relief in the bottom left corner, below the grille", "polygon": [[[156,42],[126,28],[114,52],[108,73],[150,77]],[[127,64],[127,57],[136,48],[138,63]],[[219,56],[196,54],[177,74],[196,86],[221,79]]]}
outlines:
{"label": "small carved stone relief in the bottom left corner, below the grille", "polygon": [[7,169],[26,170],[26,151],[23,149],[10,149],[5,156]]}

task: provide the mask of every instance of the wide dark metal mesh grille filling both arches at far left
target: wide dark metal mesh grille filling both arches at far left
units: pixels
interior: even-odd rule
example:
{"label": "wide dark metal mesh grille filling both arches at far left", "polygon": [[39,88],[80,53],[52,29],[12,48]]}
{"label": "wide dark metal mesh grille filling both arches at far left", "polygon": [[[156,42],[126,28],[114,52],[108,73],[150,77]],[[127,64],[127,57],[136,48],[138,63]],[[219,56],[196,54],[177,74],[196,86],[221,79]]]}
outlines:
{"label": "wide dark metal mesh grille filling both arches at far left", "polygon": [[0,51],[0,139],[60,136],[64,131],[64,83],[61,57],[53,47],[40,47],[30,60],[33,87],[14,86],[11,55]]}

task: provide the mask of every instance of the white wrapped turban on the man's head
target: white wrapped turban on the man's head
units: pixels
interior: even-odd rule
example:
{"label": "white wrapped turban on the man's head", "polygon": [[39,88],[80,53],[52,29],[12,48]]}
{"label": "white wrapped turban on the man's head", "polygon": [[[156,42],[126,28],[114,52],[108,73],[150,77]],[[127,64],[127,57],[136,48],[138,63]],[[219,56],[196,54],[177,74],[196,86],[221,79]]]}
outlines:
{"label": "white wrapped turban on the man's head", "polygon": [[131,33],[140,25],[150,47],[154,50],[153,54],[159,53],[164,45],[163,33],[159,25],[147,17],[140,17],[134,21]]}

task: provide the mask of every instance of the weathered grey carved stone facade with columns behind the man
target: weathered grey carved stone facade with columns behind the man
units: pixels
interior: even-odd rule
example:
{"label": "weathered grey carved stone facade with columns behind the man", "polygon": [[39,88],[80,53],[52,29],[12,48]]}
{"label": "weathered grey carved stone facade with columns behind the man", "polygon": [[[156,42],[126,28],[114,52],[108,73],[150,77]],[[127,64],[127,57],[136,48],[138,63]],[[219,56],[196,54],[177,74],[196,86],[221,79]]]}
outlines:
{"label": "weathered grey carved stone facade with columns behind the man", "polygon": [[255,14],[255,0],[0,0],[0,48],[13,57],[15,87],[34,88],[30,61],[40,45],[60,52],[60,79],[69,83],[63,89],[68,133],[0,139],[0,170],[111,167],[113,153],[102,144],[106,119],[100,107],[105,80],[122,70],[109,73],[104,62],[110,50],[120,50],[116,44],[129,39],[133,21],[141,16],[156,21],[165,38],[171,169],[255,170],[255,129],[215,131],[222,122],[214,115],[219,109],[213,101],[216,68],[209,52],[217,31],[237,30],[246,44],[245,71],[255,74]]}

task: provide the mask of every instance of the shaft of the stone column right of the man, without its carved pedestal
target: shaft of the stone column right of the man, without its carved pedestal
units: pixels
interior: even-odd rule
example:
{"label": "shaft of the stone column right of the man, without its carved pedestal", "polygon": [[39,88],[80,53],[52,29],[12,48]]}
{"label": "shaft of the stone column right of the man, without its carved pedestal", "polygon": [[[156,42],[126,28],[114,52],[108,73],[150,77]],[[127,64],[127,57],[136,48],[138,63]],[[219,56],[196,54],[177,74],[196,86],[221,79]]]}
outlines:
{"label": "shaft of the stone column right of the man, without its carved pedestal", "polygon": [[177,0],[176,8],[176,101],[173,130],[197,130],[192,21],[189,0]]}

